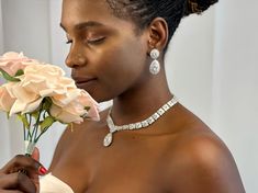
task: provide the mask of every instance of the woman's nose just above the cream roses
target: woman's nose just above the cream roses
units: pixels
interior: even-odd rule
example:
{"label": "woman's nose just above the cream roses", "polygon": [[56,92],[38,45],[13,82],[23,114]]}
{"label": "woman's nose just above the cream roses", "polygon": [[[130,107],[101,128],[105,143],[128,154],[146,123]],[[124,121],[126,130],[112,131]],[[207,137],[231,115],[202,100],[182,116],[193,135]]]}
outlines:
{"label": "woman's nose just above the cream roses", "polygon": [[81,53],[81,50],[71,47],[69,54],[66,57],[66,65],[69,68],[78,68],[85,66],[86,64],[87,58],[85,53]]}

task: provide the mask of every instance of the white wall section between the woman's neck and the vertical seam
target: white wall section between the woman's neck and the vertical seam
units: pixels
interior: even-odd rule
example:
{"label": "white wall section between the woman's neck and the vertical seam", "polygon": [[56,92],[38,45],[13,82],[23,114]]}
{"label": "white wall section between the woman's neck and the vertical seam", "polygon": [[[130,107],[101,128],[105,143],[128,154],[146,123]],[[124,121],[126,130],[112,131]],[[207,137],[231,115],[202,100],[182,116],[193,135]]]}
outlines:
{"label": "white wall section between the woman's neck and the vertical seam", "polygon": [[[167,78],[180,101],[211,124],[214,8],[182,20],[166,57]],[[200,105],[201,104],[201,105]]]}

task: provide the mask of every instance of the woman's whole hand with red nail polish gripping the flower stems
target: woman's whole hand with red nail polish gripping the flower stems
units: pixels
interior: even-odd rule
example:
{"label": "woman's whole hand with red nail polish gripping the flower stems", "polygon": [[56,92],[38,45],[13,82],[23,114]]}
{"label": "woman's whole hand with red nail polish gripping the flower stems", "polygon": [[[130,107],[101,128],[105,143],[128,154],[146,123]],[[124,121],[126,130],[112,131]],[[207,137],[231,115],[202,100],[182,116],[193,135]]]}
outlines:
{"label": "woman's whole hand with red nail polish gripping the flower stems", "polygon": [[[46,169],[38,162],[40,152],[35,148],[32,157],[15,156],[0,169],[0,193],[36,193],[38,192],[38,174]],[[26,174],[24,172],[25,171]]]}

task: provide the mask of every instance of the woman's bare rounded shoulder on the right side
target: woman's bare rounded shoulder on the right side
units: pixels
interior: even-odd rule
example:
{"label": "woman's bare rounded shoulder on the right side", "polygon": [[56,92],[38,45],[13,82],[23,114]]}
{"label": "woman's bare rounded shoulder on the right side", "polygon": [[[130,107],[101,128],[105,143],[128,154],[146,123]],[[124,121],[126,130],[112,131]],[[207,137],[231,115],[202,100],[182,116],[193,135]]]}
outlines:
{"label": "woman's bare rounded shoulder on the right side", "polygon": [[244,193],[244,186],[226,145],[203,123],[180,132],[168,154],[170,192]]}

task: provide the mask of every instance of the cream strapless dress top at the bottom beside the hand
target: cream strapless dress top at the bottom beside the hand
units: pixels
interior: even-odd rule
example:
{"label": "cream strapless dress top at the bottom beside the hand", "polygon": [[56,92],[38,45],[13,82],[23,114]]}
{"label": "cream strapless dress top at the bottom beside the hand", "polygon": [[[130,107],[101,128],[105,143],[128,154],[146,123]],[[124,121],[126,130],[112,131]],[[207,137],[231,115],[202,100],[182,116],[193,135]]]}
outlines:
{"label": "cream strapless dress top at the bottom beside the hand", "polygon": [[48,173],[40,180],[40,193],[75,193],[72,189],[57,177]]}

